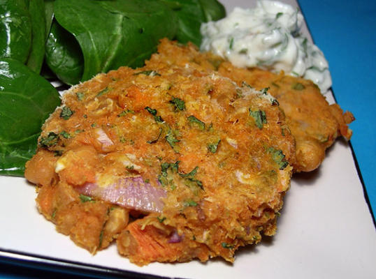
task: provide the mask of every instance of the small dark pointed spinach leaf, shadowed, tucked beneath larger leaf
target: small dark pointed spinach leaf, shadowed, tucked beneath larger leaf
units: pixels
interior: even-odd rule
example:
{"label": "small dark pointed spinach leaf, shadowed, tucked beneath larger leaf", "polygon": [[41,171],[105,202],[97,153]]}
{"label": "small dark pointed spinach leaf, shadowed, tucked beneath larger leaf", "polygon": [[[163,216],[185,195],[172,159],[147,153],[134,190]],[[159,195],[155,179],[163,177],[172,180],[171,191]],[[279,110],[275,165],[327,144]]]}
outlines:
{"label": "small dark pointed spinach leaf, shadowed, tucked beneath larger leaf", "polygon": [[45,43],[45,63],[62,82],[71,85],[80,82],[84,66],[80,45],[56,20]]}

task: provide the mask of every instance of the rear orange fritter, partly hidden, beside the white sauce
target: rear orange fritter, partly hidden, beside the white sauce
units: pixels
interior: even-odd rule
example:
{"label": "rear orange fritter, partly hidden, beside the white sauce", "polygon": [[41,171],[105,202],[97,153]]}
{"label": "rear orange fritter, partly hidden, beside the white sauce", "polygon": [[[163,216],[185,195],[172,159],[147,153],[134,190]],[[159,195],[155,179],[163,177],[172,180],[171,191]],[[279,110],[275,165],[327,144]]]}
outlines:
{"label": "rear orange fritter, partly hidden, beside the white sauce", "polygon": [[159,56],[153,57],[151,62],[217,70],[239,86],[268,88],[268,93],[277,98],[286,114],[287,126],[296,140],[296,160],[290,160],[295,172],[316,169],[324,160],[325,150],[337,137],[342,135],[349,140],[352,136],[347,124],[354,121],[354,116],[351,112],[344,114],[337,104],[329,105],[310,80],[259,68],[236,68],[219,56],[198,52],[194,45],[182,47],[168,40],[162,40],[158,52]]}

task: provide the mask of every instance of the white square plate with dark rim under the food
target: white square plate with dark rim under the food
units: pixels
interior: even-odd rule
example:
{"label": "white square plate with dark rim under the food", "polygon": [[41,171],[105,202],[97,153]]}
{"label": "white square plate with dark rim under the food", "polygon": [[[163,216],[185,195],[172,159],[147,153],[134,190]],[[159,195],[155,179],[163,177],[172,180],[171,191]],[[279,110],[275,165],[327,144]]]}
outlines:
{"label": "white square plate with dark rim under the food", "polygon": [[[222,0],[229,13],[254,1]],[[285,1],[297,6],[296,1]],[[305,27],[303,33],[310,37]],[[326,96],[333,103],[333,95]],[[62,269],[128,271],[171,278],[375,278],[376,234],[350,146],[338,140],[315,172],[297,174],[284,199],[277,234],[236,252],[234,264],[149,264],[139,267],[118,255],[115,245],[90,255],[55,231],[36,210],[34,186],[0,176],[0,256],[55,264]]]}

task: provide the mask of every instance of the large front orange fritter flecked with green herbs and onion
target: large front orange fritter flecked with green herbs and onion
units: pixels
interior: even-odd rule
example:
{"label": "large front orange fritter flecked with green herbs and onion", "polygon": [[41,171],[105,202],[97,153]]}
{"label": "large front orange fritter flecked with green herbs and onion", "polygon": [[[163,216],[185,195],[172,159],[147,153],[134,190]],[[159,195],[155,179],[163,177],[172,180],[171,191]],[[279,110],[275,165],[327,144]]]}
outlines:
{"label": "large front orange fritter flecked with green herbs and onion", "polygon": [[167,46],[169,59],[66,92],[25,175],[39,211],[90,252],[117,239],[139,265],[233,262],[239,246],[275,234],[294,138],[275,98]]}

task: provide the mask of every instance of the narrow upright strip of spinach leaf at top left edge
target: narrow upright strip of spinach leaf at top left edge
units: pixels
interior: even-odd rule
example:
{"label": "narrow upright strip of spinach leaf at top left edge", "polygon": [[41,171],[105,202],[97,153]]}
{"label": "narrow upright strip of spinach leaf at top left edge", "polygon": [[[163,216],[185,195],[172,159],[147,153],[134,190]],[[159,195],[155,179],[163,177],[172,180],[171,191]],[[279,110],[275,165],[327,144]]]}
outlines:
{"label": "narrow upright strip of spinach leaf at top left edge", "polygon": [[45,56],[45,7],[43,0],[29,1],[31,18],[31,50],[27,66],[40,73]]}

